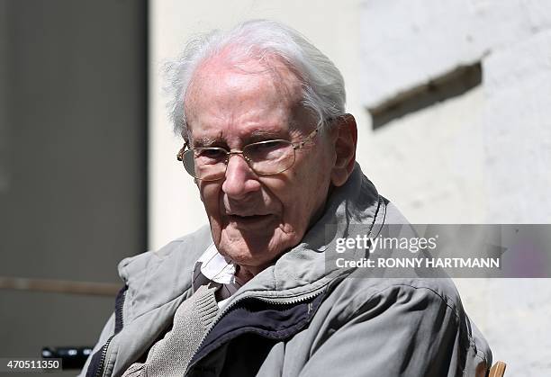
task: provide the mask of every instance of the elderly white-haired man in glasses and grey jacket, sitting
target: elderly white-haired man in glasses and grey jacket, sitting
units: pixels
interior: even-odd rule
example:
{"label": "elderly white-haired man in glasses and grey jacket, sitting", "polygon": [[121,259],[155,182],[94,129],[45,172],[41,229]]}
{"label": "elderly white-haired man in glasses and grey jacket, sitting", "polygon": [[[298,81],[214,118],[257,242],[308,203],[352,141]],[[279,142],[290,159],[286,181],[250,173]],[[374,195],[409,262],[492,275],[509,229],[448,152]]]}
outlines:
{"label": "elderly white-haired man in glasses and grey jacket, sitting", "polygon": [[177,157],[210,227],[122,261],[83,375],[485,373],[490,350],[449,280],[326,263],[353,224],[405,222],[355,161],[329,58],[252,21],[191,41],[172,68]]}

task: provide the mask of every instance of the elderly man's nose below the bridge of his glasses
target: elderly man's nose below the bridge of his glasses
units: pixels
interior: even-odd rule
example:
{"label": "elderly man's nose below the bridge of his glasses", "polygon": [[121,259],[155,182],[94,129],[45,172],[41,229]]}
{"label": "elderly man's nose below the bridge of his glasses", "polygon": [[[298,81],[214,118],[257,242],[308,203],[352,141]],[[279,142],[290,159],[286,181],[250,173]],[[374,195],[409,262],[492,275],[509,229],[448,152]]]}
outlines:
{"label": "elderly man's nose below the bridge of his glasses", "polygon": [[226,177],[221,187],[230,198],[241,199],[248,193],[260,189],[257,175],[248,166],[243,155],[230,155],[226,166]]}

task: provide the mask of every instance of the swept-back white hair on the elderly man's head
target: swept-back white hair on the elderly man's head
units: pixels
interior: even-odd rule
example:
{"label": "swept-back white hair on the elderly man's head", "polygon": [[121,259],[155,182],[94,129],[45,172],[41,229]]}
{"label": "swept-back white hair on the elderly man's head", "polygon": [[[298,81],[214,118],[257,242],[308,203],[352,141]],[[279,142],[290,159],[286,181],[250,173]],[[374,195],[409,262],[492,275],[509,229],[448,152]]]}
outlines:
{"label": "swept-back white hair on the elderly man's head", "polygon": [[298,31],[275,21],[252,20],[230,31],[214,30],[189,40],[182,55],[167,63],[170,119],[174,131],[185,140],[185,94],[194,71],[207,58],[234,46],[250,58],[281,59],[301,80],[303,106],[317,116],[319,126],[345,113],[344,79],[333,62]]}

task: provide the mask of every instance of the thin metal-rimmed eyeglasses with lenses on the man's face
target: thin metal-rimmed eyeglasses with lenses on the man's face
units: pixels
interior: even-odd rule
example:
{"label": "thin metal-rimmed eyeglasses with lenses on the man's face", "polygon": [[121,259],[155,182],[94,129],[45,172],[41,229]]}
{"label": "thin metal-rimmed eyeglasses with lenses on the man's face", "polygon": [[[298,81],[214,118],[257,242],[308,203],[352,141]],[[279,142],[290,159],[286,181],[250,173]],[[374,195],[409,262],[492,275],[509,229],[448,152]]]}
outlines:
{"label": "thin metal-rimmed eyeglasses with lenses on the man's face", "polygon": [[317,127],[298,142],[293,143],[284,139],[266,140],[248,144],[242,150],[228,151],[226,148],[185,150],[186,142],[176,158],[184,163],[185,171],[189,175],[202,181],[217,181],[223,178],[232,155],[241,155],[257,175],[276,175],[293,166],[296,149],[303,148],[319,130],[320,127]]}

